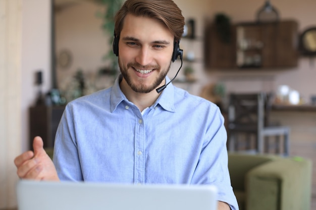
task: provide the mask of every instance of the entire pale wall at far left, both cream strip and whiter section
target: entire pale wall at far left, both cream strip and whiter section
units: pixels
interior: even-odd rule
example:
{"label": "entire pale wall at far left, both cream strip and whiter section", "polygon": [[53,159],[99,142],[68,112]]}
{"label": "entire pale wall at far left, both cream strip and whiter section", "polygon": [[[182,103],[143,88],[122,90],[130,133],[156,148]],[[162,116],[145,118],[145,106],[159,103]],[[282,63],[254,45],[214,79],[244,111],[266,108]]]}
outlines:
{"label": "entire pale wall at far left, both cream strip and whiter section", "polygon": [[0,0],[0,209],[16,206],[14,158],[28,149],[28,108],[50,88],[50,1]]}

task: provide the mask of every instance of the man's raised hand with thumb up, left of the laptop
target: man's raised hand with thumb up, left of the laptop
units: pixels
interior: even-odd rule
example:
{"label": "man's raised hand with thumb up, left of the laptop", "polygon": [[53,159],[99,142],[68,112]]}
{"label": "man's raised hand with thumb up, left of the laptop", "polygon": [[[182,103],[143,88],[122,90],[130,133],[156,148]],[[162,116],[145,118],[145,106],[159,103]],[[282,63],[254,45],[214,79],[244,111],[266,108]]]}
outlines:
{"label": "man's raised hand with thumb up, left of the laptop", "polygon": [[42,138],[36,136],[32,151],[27,151],[14,159],[17,174],[23,179],[59,181],[56,168],[43,149]]}

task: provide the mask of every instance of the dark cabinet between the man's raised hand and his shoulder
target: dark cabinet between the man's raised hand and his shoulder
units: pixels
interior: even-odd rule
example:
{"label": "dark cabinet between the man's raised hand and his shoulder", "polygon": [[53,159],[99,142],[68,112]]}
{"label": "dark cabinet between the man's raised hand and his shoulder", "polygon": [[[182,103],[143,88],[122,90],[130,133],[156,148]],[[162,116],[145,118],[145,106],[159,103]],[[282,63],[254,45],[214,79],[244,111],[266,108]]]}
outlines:
{"label": "dark cabinet between the man's raised hand and his shoulder", "polygon": [[44,148],[54,147],[55,135],[65,106],[34,106],[29,108],[30,144],[33,149],[33,138],[41,136]]}

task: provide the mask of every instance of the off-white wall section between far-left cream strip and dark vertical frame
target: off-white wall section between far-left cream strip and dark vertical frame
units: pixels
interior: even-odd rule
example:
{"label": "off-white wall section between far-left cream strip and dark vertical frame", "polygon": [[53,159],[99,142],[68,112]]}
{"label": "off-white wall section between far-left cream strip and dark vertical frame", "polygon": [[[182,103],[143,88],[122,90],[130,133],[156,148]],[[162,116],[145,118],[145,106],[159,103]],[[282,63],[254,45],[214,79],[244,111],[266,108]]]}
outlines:
{"label": "off-white wall section between far-left cream strip and dark vertical frame", "polygon": [[22,151],[29,148],[28,109],[35,104],[38,87],[35,73],[43,72],[42,91],[51,88],[50,0],[23,0],[22,10]]}

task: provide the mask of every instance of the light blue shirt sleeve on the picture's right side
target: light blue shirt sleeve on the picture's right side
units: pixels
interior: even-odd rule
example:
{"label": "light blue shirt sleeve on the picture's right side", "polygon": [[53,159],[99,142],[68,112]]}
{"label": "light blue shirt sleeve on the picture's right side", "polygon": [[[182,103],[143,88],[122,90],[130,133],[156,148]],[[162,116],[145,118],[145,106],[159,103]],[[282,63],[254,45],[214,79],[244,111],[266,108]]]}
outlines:
{"label": "light blue shirt sleeve on the picture's right side", "polygon": [[212,184],[218,188],[218,200],[226,202],[232,210],[238,210],[236,196],[231,186],[228,170],[227,132],[224,117],[217,107],[205,128],[203,150],[194,172],[193,184]]}

